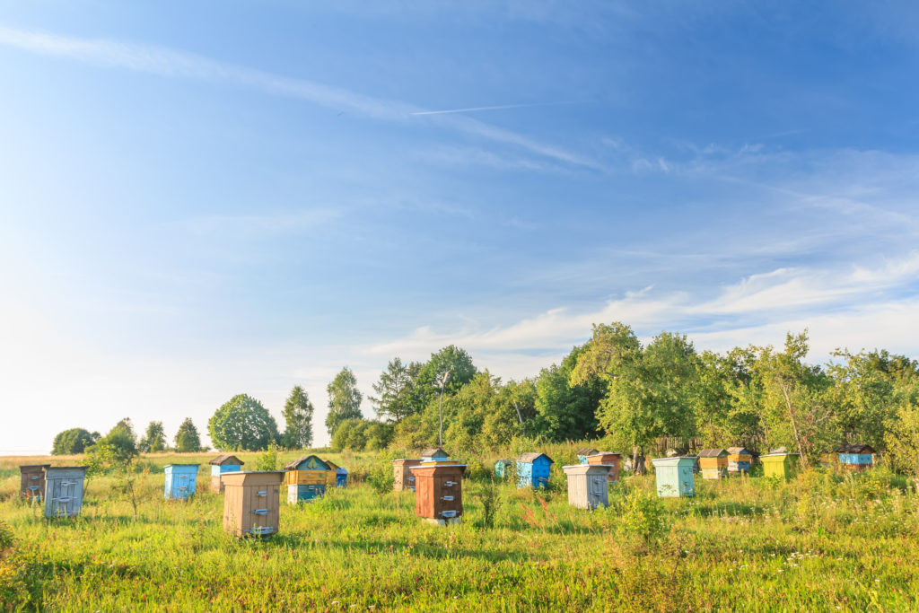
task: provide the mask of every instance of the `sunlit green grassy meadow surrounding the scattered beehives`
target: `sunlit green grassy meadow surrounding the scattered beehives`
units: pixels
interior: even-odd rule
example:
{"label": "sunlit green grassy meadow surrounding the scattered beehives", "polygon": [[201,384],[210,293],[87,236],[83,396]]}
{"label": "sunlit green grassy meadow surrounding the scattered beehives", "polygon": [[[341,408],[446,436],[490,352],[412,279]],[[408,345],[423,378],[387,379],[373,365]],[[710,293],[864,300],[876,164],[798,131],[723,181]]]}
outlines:
{"label": "sunlit green grassy meadow surrounding the scattered beehives", "polygon": [[[139,515],[99,477],[83,516],[46,520],[17,498],[20,463],[0,458],[0,603],[5,610],[530,611],[916,610],[919,496],[883,467],[805,471],[790,482],[704,482],[659,500],[626,476],[610,505],[567,504],[550,449],[548,491],[494,485],[471,461],[463,523],[414,517],[414,493],[380,493],[389,456],[323,454],[353,482],[282,504],[281,531],[234,539],[210,493],[210,454],[142,460]],[[238,454],[248,465],[255,454]],[[294,454],[283,454],[287,461]],[[163,500],[162,466],[200,461],[199,493]],[[492,526],[485,504],[497,502]],[[12,543],[10,544],[10,537]]]}

